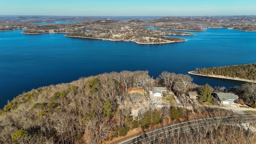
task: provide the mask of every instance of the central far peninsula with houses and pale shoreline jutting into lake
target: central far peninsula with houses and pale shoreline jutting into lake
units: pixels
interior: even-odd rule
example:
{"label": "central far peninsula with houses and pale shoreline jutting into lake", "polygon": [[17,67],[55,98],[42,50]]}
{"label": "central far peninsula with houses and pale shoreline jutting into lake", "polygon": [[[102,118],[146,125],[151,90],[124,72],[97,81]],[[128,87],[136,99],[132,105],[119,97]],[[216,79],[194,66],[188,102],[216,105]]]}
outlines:
{"label": "central far peninsula with houses and pale shoreline jutting into lake", "polygon": [[[31,28],[23,34],[68,33],[65,36],[74,38],[92,38],[137,44],[166,44],[172,42],[184,42],[184,38],[167,37],[166,35],[194,35],[188,32],[172,30],[153,30],[145,26],[140,20],[117,21],[112,19],[83,22],[79,24],[63,24],[64,28],[56,28],[56,25],[40,25],[40,28]],[[52,28],[52,29],[49,29]]]}

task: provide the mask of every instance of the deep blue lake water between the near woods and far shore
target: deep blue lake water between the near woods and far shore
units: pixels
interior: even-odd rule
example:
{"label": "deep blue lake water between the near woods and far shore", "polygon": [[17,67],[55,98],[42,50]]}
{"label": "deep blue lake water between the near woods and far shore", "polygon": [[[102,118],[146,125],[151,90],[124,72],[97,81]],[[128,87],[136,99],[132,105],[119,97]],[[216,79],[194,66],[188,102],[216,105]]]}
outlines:
{"label": "deep blue lake water between the near woods and far shore", "polygon": [[[0,108],[23,91],[122,70],[187,74],[196,68],[256,62],[256,32],[212,29],[177,36],[186,42],[143,45],[69,38],[64,34],[0,32]],[[243,82],[192,76],[194,83],[227,88]]]}

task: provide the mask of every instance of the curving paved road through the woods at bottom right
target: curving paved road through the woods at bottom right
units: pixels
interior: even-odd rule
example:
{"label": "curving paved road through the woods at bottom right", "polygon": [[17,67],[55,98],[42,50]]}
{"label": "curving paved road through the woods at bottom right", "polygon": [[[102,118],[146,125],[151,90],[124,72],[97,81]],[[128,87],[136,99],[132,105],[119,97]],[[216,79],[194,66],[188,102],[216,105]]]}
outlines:
{"label": "curving paved road through the woods at bottom right", "polygon": [[171,126],[166,126],[158,130],[140,134],[134,136],[128,140],[124,140],[118,144],[141,144],[155,140],[156,138],[161,138],[170,134],[175,134],[178,132],[190,131],[195,128],[201,128],[204,126],[212,126],[216,124],[239,124],[248,123],[256,121],[256,115],[236,115],[236,116],[226,116],[226,117],[216,117],[201,120],[194,120],[188,122],[182,122],[180,124],[174,124]]}

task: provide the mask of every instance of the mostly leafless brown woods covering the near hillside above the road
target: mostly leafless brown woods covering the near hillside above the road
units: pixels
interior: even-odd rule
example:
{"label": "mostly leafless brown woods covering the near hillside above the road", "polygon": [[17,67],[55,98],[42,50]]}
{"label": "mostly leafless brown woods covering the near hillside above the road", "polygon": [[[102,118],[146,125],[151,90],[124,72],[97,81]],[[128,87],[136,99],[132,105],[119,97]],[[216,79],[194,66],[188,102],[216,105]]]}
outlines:
{"label": "mostly leafless brown woods covering the near hillside above the road", "polygon": [[[148,93],[154,86],[175,92],[182,106],[157,108],[159,101]],[[131,92],[134,88],[140,92]],[[20,94],[0,111],[0,143],[96,144],[126,136],[132,129],[142,132],[175,122],[232,114],[196,106],[186,109],[192,106],[186,93],[200,88],[188,75],[162,72],[153,79],[148,71],[104,73],[37,88]],[[216,130],[222,132],[225,128]],[[241,128],[234,130],[248,138]],[[212,138],[210,135],[204,141]],[[176,140],[173,138],[166,140]]]}

